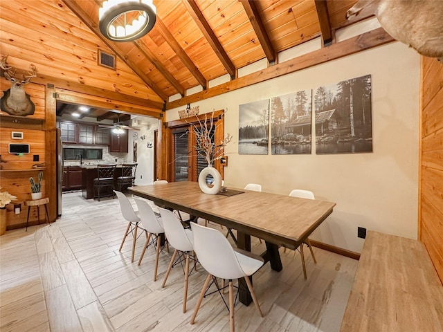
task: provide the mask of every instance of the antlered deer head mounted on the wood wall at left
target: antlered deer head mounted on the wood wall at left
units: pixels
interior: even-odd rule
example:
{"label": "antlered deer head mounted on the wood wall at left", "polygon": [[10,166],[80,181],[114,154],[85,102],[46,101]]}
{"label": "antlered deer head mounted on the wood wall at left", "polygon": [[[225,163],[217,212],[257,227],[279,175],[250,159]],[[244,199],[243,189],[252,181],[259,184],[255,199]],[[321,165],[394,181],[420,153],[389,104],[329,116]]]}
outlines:
{"label": "antlered deer head mounted on the wood wall at left", "polygon": [[8,55],[1,58],[0,68],[2,69],[2,76],[10,81],[12,85],[10,89],[3,91],[3,97],[0,98],[0,109],[11,116],[29,116],[34,114],[35,104],[30,100],[28,93],[24,91],[24,85],[37,76],[37,68],[31,64],[31,71],[27,75],[22,73],[22,79],[19,80],[15,76],[15,68],[8,66],[7,59]]}

